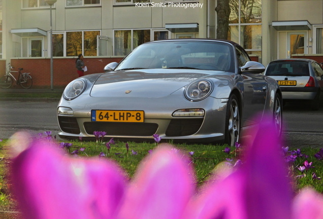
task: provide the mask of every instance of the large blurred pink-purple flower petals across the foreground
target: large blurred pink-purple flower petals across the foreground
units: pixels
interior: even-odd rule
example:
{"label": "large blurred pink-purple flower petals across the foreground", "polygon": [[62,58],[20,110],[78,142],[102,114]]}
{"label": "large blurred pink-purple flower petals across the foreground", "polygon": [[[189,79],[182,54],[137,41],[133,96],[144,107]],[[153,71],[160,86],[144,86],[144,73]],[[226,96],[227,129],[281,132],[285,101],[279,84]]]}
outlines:
{"label": "large blurred pink-purple flower petals across the foreground", "polygon": [[259,127],[243,143],[243,164],[219,164],[199,191],[187,153],[165,144],[128,182],[107,159],[74,159],[32,142],[13,159],[14,193],[27,219],[323,218],[322,195],[307,189],[293,199],[272,118]]}

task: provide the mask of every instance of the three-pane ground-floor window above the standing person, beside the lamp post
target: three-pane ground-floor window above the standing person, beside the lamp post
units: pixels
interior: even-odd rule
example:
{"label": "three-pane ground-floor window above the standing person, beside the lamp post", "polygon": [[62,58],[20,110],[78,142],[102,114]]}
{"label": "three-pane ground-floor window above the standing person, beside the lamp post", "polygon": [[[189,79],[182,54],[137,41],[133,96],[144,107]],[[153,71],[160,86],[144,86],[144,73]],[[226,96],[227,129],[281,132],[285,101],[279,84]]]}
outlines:
{"label": "three-pane ground-floor window above the standing person, beside the lamp post", "polygon": [[97,56],[99,30],[53,32],[53,56]]}

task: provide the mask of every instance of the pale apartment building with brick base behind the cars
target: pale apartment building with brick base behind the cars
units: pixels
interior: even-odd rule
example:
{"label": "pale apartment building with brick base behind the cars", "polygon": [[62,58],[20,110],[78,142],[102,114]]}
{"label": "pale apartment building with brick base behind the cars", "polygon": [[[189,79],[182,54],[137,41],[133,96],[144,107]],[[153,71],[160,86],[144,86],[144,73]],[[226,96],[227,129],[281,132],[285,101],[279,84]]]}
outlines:
{"label": "pale apartment building with brick base behind the cars", "polygon": [[[39,66],[48,63],[52,52],[61,65],[82,53],[95,60],[93,72],[100,71],[148,41],[216,38],[216,2],[57,0],[50,9],[46,0],[0,0],[0,62]],[[320,58],[323,53],[323,0],[230,0],[230,9],[229,40],[264,65],[277,58]]]}

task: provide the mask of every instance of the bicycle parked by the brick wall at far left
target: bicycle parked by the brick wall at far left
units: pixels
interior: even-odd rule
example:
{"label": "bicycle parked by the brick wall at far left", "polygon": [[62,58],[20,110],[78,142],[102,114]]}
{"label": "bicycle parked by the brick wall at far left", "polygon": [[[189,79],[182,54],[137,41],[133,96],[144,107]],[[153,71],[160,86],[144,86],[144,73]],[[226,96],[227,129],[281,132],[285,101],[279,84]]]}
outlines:
{"label": "bicycle parked by the brick wall at far left", "polygon": [[[11,87],[14,81],[17,85],[20,85],[22,88],[28,89],[33,85],[33,79],[29,75],[30,73],[21,71],[23,68],[18,68],[18,71],[13,70],[14,67],[8,63],[6,75],[0,78],[0,87],[2,89],[8,89]],[[12,72],[19,72],[18,80],[11,74]]]}

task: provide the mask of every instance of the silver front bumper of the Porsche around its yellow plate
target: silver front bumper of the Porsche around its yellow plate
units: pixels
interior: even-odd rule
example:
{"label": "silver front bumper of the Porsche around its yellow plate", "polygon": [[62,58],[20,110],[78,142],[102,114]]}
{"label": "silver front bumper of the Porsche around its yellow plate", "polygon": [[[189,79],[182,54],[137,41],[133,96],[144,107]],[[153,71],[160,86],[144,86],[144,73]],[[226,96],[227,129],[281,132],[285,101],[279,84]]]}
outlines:
{"label": "silver front bumper of the Porsche around its yellow plate", "polygon": [[[94,138],[93,131],[105,131],[106,137],[116,139],[153,139],[153,134],[159,134],[162,139],[197,142],[224,139],[227,103],[213,97],[197,102],[188,101],[177,95],[158,98],[158,100],[118,98],[107,101],[105,98],[90,97],[87,94],[71,101],[62,99],[58,106],[70,107],[74,112],[73,116],[58,115],[60,128],[58,135],[61,138],[80,136]],[[176,110],[183,108],[203,108],[205,115],[204,117],[172,116]],[[143,110],[145,121],[143,123],[91,122],[91,109]]]}

